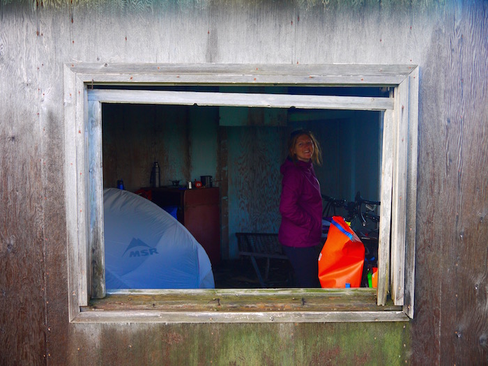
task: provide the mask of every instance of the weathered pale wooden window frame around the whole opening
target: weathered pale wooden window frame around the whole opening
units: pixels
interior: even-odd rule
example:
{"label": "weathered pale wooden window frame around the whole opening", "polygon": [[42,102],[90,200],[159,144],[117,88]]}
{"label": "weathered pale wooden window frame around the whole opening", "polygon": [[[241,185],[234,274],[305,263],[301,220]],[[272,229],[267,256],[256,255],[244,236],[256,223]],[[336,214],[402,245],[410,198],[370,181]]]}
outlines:
{"label": "weathered pale wooden window frame around the whole opening", "polygon": [[[64,125],[70,321],[260,323],[408,321],[413,318],[418,75],[418,66],[409,65],[66,63]],[[93,89],[94,84],[387,86],[393,93],[390,98],[291,96]],[[383,111],[376,291],[135,289],[105,293],[103,102]]]}

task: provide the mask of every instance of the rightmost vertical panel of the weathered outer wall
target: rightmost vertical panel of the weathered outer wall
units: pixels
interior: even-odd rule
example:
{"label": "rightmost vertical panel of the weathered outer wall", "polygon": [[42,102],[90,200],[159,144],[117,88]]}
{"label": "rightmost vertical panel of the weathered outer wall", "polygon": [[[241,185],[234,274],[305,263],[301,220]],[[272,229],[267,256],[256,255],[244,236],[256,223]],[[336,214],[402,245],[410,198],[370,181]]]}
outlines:
{"label": "rightmost vertical panel of the weathered outer wall", "polygon": [[451,275],[441,277],[440,360],[481,365],[488,363],[488,171],[477,166],[488,166],[488,6],[462,6],[446,16],[440,216],[451,224],[441,268]]}

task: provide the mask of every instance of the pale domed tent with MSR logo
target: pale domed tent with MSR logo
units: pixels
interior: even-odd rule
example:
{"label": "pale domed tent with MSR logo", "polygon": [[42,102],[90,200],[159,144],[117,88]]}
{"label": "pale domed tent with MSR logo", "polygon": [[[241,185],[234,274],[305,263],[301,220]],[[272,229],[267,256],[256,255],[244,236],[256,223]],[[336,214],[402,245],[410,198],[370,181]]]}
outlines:
{"label": "pale domed tent with MSR logo", "polygon": [[183,225],[132,192],[103,191],[107,289],[213,289],[210,259]]}

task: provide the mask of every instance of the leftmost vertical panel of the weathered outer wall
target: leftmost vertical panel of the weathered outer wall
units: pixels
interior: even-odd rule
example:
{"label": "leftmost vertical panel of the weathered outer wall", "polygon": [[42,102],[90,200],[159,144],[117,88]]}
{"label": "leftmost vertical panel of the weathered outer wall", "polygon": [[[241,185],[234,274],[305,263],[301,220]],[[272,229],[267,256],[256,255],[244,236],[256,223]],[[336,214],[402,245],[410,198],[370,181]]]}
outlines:
{"label": "leftmost vertical panel of the weathered outer wall", "polygon": [[[46,349],[45,147],[37,19],[0,10],[0,364],[41,365]],[[22,20],[22,26],[17,21]],[[22,101],[22,102],[20,102]],[[29,101],[29,102],[26,102]],[[62,191],[61,191],[62,192]]]}

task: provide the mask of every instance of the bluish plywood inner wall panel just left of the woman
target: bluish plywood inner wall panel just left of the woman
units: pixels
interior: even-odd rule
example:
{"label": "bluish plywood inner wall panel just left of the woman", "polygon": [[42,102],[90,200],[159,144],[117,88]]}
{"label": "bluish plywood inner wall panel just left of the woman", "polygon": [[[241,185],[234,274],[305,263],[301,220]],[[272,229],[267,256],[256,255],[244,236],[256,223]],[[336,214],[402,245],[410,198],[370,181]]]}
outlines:
{"label": "bluish plywood inner wall panel just left of the woman", "polygon": [[280,165],[284,128],[227,128],[229,180],[229,253],[236,256],[234,233],[277,233],[281,192]]}

